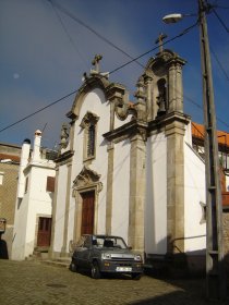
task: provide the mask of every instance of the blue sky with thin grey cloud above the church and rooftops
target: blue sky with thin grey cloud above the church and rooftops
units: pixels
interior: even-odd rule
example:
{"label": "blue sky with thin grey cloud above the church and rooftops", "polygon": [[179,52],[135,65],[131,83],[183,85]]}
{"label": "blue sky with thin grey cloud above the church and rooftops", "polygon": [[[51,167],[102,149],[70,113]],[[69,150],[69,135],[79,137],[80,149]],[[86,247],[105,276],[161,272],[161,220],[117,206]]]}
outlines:
{"label": "blue sky with thin grey cloud above the church and rooftops", "polygon": [[[218,8],[217,13],[229,27],[228,0],[209,2],[225,8]],[[153,49],[159,33],[166,33],[170,39],[196,21],[193,16],[166,25],[161,22],[164,15],[197,12],[197,0],[52,0],[52,3],[49,0],[0,0],[0,130],[77,89],[96,53],[104,57],[100,66],[105,72],[130,60],[57,9],[58,5],[132,57]],[[229,132],[229,33],[214,13],[207,16],[207,22],[214,52],[217,127]],[[202,123],[198,28],[166,48],[188,61],[183,69],[184,110],[193,121]],[[156,52],[138,61],[145,64]],[[138,64],[131,63],[112,73],[110,81],[125,85],[132,96],[142,71]],[[61,124],[68,122],[65,113],[73,100],[74,95],[0,132],[0,142],[21,145],[24,138],[33,139],[35,130],[45,129],[43,145],[53,148],[59,143]]]}

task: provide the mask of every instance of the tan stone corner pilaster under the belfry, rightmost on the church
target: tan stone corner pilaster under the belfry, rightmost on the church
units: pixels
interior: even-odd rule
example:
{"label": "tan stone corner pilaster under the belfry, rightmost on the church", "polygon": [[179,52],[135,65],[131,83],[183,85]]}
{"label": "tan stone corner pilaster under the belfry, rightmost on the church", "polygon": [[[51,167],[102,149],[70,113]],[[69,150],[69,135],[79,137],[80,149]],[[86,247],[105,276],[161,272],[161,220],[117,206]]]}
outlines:
{"label": "tan stone corner pilaster under the belfry, rightmost on the church", "polygon": [[171,121],[167,136],[168,253],[184,252],[184,123]]}

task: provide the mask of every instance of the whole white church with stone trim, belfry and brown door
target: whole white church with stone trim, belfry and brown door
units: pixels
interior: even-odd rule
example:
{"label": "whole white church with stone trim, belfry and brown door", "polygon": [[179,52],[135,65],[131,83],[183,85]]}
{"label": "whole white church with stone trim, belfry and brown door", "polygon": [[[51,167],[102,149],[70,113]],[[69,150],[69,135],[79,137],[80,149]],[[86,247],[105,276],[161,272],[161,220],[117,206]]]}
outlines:
{"label": "whole white church with stone trim, belfry and brown door", "polygon": [[205,254],[205,166],[183,113],[184,60],[170,50],[149,59],[136,84],[91,72],[62,126],[56,160],[52,258],[69,256],[84,233],[122,236],[147,260]]}

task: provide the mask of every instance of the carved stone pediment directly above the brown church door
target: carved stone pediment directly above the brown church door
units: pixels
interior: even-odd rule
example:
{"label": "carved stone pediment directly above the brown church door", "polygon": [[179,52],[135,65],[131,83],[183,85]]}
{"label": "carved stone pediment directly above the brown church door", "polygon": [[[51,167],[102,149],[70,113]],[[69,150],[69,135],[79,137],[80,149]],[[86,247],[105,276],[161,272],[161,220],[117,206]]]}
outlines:
{"label": "carved stone pediment directly above the brown church door", "polygon": [[99,186],[99,191],[103,187],[101,182],[99,182],[100,174],[98,174],[96,171],[89,169],[87,166],[84,166],[82,171],[79,173],[79,175],[73,181],[73,188],[86,188],[91,186]]}

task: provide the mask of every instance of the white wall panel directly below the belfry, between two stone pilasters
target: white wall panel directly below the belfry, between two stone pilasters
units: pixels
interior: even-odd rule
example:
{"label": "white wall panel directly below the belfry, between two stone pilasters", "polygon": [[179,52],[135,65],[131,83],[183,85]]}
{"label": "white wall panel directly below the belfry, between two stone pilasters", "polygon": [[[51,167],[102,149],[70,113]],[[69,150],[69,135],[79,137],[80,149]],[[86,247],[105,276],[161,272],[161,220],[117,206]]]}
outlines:
{"label": "white wall panel directly below the belfry, between two stone pilasters", "polygon": [[167,252],[167,141],[164,133],[147,141],[145,252]]}

